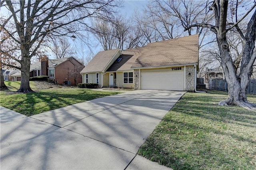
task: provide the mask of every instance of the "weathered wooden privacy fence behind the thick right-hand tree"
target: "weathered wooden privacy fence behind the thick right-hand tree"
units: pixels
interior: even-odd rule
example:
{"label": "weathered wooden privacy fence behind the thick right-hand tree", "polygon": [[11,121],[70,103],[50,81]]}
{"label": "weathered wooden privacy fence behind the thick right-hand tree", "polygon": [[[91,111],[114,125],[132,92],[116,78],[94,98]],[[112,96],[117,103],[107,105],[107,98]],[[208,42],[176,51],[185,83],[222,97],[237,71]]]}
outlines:
{"label": "weathered wooden privacy fence behind the thick right-hand tree", "polygon": [[[223,79],[210,79],[209,89],[228,91],[228,83]],[[256,94],[256,79],[250,79],[247,88],[247,94]]]}

